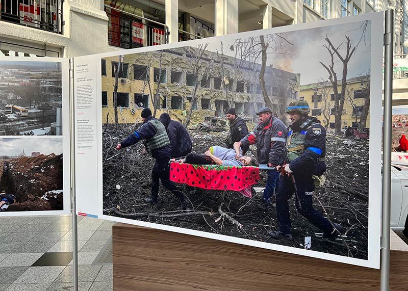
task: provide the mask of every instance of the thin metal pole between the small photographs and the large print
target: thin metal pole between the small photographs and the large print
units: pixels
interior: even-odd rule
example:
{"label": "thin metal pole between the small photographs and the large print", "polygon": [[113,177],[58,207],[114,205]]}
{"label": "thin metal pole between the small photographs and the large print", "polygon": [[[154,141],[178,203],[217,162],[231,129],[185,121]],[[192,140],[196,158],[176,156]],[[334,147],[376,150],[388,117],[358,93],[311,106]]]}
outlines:
{"label": "thin metal pole between the small photographs and the large print", "polygon": [[74,115],[74,66],[73,58],[69,59],[69,148],[71,165],[71,211],[72,211],[72,282],[73,291],[78,291],[78,220],[77,200],[75,193],[75,115]]}

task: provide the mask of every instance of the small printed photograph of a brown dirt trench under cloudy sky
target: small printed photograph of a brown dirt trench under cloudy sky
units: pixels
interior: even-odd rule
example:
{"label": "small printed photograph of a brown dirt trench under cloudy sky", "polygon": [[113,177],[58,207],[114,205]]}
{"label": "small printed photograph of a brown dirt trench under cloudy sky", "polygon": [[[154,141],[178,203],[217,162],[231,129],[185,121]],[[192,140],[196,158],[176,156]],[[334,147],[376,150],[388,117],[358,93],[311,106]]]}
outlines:
{"label": "small printed photograph of a brown dirt trench under cloudy sky", "polygon": [[63,210],[62,138],[0,138],[0,214]]}

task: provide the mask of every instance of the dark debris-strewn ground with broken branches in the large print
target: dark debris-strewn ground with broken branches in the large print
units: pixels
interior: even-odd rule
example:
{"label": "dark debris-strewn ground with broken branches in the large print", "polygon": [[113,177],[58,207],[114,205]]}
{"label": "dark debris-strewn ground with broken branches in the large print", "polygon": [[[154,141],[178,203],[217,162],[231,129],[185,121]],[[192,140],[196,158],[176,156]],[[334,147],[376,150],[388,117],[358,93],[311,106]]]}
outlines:
{"label": "dark debris-strewn ground with broken branches in the large print", "polygon": [[[159,192],[159,199],[164,200],[161,209],[146,204],[144,198],[150,196],[154,161],[150,154],[143,153],[143,143],[122,151],[115,149],[121,139],[136,128],[133,125],[103,127],[104,214],[297,248],[303,248],[305,236],[311,236],[312,250],[367,258],[369,141],[327,135],[327,181],[324,187],[316,189],[314,206],[331,222],[341,223],[347,234],[334,242],[322,239],[320,230],[296,213],[292,197],[289,203],[294,240],[277,241],[267,233],[277,229],[275,208],[270,207],[267,211],[258,208],[262,198],[259,192],[252,191],[253,198],[248,199],[232,191],[207,191],[177,184],[192,202],[194,213],[183,216],[176,211],[179,202],[164,188]],[[226,134],[227,131],[190,130],[193,151],[205,152],[210,146],[222,146]],[[251,146],[247,154],[256,156],[256,147]],[[257,187],[265,186],[266,171],[262,172],[263,179]],[[225,214],[242,228],[225,219]]]}

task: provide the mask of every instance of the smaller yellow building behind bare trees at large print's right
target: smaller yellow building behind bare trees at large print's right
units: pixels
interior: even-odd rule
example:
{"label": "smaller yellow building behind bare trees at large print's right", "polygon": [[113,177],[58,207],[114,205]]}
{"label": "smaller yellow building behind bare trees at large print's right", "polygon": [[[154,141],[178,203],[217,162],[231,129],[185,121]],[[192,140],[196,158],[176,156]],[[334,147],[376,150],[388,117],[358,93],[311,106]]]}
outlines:
{"label": "smaller yellow building behind bare trees at large print's right", "polygon": [[[364,101],[369,92],[369,76],[355,77],[347,80],[346,93],[341,118],[341,127],[358,127],[364,108]],[[339,81],[339,84],[341,80]],[[368,90],[367,90],[368,88]],[[337,87],[338,94],[341,93],[341,85]],[[316,96],[316,98],[315,98]],[[309,103],[310,115],[316,116],[328,130],[334,130],[335,98],[333,86],[329,82],[314,83],[300,86],[299,97]],[[367,116],[366,127],[370,124],[370,114]]]}

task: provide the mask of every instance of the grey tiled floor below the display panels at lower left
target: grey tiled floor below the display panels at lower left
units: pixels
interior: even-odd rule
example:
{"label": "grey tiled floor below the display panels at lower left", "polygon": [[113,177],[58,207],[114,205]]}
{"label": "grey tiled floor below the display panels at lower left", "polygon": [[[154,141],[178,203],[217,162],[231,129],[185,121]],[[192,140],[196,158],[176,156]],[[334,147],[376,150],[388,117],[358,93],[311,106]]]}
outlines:
{"label": "grey tiled floor below the display panels at lower left", "polygon": [[[68,215],[0,217],[0,291],[72,290],[71,220]],[[112,290],[112,264],[95,258],[111,240],[113,224],[78,217],[81,291]]]}

